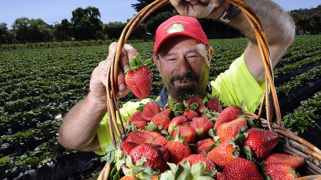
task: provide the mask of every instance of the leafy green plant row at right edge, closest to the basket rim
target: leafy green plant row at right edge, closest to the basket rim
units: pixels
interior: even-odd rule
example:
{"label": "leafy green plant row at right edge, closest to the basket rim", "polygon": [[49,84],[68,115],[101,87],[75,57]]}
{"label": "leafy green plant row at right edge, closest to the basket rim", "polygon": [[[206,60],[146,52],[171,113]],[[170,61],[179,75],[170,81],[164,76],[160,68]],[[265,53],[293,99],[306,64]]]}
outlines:
{"label": "leafy green plant row at right edge, closest to the basket rim", "polygon": [[312,98],[301,101],[301,105],[292,113],[283,117],[283,126],[303,136],[321,118],[321,91]]}

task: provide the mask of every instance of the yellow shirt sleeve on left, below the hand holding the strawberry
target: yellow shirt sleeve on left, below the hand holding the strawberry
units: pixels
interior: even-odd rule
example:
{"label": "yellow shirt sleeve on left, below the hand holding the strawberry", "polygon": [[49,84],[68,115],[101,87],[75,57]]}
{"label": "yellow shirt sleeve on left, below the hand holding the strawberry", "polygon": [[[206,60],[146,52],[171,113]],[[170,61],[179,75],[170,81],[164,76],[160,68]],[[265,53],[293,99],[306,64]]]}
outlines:
{"label": "yellow shirt sleeve on left, below the hand holding the strawberry", "polygon": [[[140,103],[146,104],[151,101],[151,99],[143,99],[140,102],[126,102],[123,104],[122,108],[120,108],[120,116],[122,118],[123,123],[125,124],[131,115],[133,115],[139,107]],[[100,144],[99,150],[94,150],[95,153],[99,155],[103,155],[106,153],[106,148],[112,144],[111,134],[109,131],[109,123],[108,123],[108,114],[103,117],[103,119],[99,122],[99,127],[97,130],[97,137]],[[118,126],[121,129],[120,120],[117,118]],[[117,134],[115,132],[115,137]]]}

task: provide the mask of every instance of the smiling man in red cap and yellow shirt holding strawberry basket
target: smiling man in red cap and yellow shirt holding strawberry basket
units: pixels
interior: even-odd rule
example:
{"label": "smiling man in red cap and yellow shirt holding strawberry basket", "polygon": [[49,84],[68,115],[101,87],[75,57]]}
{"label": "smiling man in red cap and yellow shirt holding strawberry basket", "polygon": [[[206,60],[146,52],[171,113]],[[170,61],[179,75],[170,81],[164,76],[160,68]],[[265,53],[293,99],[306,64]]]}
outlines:
{"label": "smiling man in red cap and yellow shirt holding strawberry basket", "polygon": [[[181,102],[182,93],[196,93],[202,98],[220,94],[225,105],[239,104],[244,100],[244,109],[254,112],[260,103],[264,87],[264,67],[254,32],[245,17],[225,0],[170,0],[183,16],[208,17],[223,20],[241,30],[250,40],[244,54],[235,60],[230,69],[217,77],[207,88],[209,64],[213,49],[194,18],[175,16],[165,21],[157,30],[154,62],[156,63],[165,88],[159,103],[166,104],[167,94],[174,102]],[[275,66],[294,38],[294,24],[287,13],[271,0],[245,0],[258,14],[266,31],[270,45],[272,65]],[[115,51],[112,43],[109,52]],[[123,72],[129,68],[128,58],[136,50],[125,44],[120,57],[118,94],[128,93]],[[104,154],[110,144],[107,123],[106,73],[107,60],[94,69],[90,92],[64,118],[59,130],[59,142],[67,149],[92,151]],[[166,93],[166,90],[168,92]],[[146,103],[149,99],[143,99]],[[123,120],[135,112],[139,103],[124,104],[120,113]]]}

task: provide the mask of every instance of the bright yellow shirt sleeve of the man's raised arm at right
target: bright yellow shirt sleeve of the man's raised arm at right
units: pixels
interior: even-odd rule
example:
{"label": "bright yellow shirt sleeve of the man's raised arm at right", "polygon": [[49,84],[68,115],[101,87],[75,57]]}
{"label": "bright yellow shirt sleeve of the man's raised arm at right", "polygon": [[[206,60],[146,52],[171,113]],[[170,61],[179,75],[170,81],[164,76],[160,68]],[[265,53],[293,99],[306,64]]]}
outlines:
{"label": "bright yellow shirt sleeve of the man's raised arm at right", "polygon": [[243,101],[243,109],[254,113],[260,105],[265,83],[262,86],[257,83],[246,66],[243,53],[228,70],[211,82],[211,87],[211,96],[219,94],[225,106],[240,105]]}

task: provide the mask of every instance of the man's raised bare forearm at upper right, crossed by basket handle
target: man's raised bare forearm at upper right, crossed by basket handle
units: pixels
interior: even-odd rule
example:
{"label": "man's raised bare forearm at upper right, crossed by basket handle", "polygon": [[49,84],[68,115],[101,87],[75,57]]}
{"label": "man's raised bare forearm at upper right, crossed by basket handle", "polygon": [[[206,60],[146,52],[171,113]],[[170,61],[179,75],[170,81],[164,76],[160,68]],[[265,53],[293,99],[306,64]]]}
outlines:
{"label": "man's raised bare forearm at upper right, crossed by basket handle", "polygon": [[[244,0],[258,14],[263,28],[265,30],[269,45],[281,43],[280,39],[284,39],[283,43],[288,43],[293,39],[294,24],[287,13],[272,0]],[[224,1],[220,5],[220,9],[209,16],[214,20],[219,20],[221,15],[229,7],[228,2]],[[254,31],[241,11],[239,14],[228,23],[241,32],[252,42],[256,43]]]}

